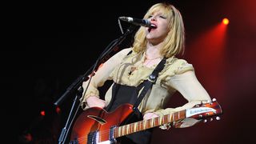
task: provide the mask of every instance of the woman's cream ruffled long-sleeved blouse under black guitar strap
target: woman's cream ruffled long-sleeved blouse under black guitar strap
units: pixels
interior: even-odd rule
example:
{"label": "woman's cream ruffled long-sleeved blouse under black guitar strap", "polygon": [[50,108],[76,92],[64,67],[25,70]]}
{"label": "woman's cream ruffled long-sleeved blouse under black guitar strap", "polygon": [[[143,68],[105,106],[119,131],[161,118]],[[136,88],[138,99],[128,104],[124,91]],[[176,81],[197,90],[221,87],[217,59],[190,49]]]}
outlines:
{"label": "woman's cream ruffled long-sleeved blouse under black guitar strap", "polygon": [[[99,97],[98,87],[103,86],[106,80],[113,80],[114,82],[127,86],[138,86],[141,82],[146,80],[153,72],[155,66],[146,67],[142,64],[145,58],[145,53],[131,53],[132,50],[127,48],[119,51],[108,61],[106,61],[91,78],[90,85],[86,93],[80,99],[82,109],[86,109],[86,98],[94,95]],[[130,73],[131,69],[135,70]],[[87,82],[83,82],[83,88],[86,90]],[[105,100],[107,105],[111,99],[112,86],[107,90]],[[187,103],[184,106],[176,108],[166,108],[166,104],[171,96],[178,90]],[[166,66],[159,73],[157,82],[153,85],[152,90],[149,90],[142,99],[138,110],[142,114],[154,112],[159,116],[171,114],[180,110],[191,108],[200,102],[207,102],[210,100],[209,94],[202,87],[194,74],[194,67],[183,59],[167,58]]]}

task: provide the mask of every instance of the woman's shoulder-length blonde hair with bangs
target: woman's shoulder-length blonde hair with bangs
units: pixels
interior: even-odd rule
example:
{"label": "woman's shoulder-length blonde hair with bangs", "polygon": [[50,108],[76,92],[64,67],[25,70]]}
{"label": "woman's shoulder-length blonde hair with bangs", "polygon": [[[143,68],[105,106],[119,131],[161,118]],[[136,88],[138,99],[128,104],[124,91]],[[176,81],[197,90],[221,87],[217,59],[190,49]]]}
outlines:
{"label": "woman's shoulder-length blonde hair with bangs", "polygon": [[[185,29],[180,12],[171,4],[157,3],[147,10],[144,18],[149,18],[151,14],[158,10],[163,10],[169,20],[169,32],[163,41],[160,54],[170,58],[177,54],[184,53],[185,47]],[[146,50],[146,32],[144,27],[140,27],[134,36],[133,50],[141,52]]]}

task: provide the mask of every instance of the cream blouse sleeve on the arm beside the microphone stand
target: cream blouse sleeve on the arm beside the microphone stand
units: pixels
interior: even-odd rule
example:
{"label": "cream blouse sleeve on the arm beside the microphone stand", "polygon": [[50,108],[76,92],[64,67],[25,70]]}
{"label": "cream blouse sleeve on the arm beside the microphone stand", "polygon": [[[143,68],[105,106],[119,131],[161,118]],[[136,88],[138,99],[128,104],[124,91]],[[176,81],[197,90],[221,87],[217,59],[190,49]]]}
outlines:
{"label": "cream blouse sleeve on the arm beside the microphone stand", "polygon": [[127,48],[119,51],[117,54],[114,54],[110,59],[108,59],[105,63],[102,64],[95,72],[94,76],[91,78],[88,89],[86,87],[88,85],[89,80],[82,83],[83,89],[86,91],[83,92],[82,98],[80,98],[82,109],[86,107],[86,98],[90,96],[99,97],[98,87],[103,86],[106,80],[110,80],[110,74],[114,70],[114,68],[122,62],[122,59],[128,54],[131,48]]}

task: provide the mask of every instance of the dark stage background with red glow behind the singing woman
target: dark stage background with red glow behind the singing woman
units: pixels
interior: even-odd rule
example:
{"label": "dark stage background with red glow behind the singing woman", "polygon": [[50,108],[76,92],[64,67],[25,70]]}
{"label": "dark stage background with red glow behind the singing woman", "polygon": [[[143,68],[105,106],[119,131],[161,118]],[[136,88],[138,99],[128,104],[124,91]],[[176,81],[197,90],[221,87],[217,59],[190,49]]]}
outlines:
{"label": "dark stage background with red glow behind the singing woman", "polygon": [[[4,22],[10,42],[2,46],[0,59],[4,141],[28,143],[25,136],[31,134],[34,141],[57,143],[74,94],[59,106],[60,113],[53,103],[86,73],[112,40],[121,36],[119,16],[142,18],[156,2],[160,1],[10,3]],[[186,129],[156,128],[152,143],[253,141],[256,2],[170,2],[181,11],[186,27],[182,58],[193,64],[198,80],[212,98],[217,98],[224,113],[220,121]],[[222,18],[229,18],[230,24],[224,31],[214,31]],[[126,30],[129,25],[122,22],[122,26]],[[130,46],[130,37],[126,40],[120,49]],[[176,94],[169,106],[184,102]],[[46,111],[44,117],[41,110]]]}

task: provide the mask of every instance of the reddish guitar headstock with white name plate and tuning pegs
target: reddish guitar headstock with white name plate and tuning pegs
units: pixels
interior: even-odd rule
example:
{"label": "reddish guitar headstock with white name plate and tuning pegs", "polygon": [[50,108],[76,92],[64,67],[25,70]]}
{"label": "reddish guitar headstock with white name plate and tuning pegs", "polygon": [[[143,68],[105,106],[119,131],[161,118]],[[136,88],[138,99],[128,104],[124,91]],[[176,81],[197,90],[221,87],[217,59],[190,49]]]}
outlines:
{"label": "reddish guitar headstock with white name plate and tuning pegs", "polygon": [[203,122],[207,122],[206,118],[210,118],[210,121],[220,120],[218,115],[222,114],[222,107],[218,104],[215,98],[211,102],[201,103],[193,108],[186,110],[186,118],[204,119]]}

